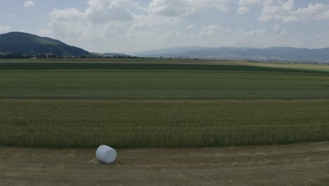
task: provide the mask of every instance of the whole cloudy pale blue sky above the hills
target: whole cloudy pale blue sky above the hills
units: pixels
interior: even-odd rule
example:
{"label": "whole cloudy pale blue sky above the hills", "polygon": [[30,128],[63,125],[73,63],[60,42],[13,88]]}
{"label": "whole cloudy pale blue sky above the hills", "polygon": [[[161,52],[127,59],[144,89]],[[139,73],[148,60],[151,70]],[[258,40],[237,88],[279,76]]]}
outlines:
{"label": "whole cloudy pale blue sky above the hills", "polygon": [[329,47],[329,0],[1,0],[0,34],[93,52],[177,46]]}

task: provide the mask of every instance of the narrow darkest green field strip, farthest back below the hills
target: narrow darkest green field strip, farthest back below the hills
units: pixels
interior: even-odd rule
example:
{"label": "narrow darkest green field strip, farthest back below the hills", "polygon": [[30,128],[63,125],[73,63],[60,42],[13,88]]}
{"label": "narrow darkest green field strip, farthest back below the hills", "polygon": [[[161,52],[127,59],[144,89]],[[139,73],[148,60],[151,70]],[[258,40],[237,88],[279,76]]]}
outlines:
{"label": "narrow darkest green field strip, farthest back below the hills", "polygon": [[229,70],[267,73],[307,73],[329,75],[318,70],[302,70],[290,68],[269,68],[261,66],[240,65],[202,65],[202,64],[169,64],[169,63],[0,63],[0,70]]}

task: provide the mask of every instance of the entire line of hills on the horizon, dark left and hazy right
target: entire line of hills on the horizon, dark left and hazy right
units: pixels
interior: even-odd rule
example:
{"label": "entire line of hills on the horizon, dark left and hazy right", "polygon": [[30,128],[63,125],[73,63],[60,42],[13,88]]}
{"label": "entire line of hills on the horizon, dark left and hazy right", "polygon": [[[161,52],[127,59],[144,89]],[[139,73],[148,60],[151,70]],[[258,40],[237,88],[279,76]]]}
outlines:
{"label": "entire line of hills on the horizon, dark left and hazy right", "polygon": [[[24,32],[8,32],[0,35],[0,55],[25,54],[34,56],[50,53],[54,56],[127,56],[127,54],[120,53],[89,53],[89,51],[85,51],[76,46],[70,46],[56,39],[39,37]],[[329,63],[329,48],[304,49],[293,47],[251,48],[183,46],[140,51],[132,53],[131,56]]]}

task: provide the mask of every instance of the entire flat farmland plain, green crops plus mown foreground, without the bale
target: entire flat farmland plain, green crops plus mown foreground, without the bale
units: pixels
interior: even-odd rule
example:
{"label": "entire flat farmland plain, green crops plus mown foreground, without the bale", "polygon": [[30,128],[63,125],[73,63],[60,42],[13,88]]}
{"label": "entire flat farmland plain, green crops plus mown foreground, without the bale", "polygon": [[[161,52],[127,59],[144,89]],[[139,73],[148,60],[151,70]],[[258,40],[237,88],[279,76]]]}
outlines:
{"label": "entire flat farmland plain, green crops plus mown foreground, without the bale", "polygon": [[[177,174],[174,185],[191,183],[198,174],[203,177],[195,185],[329,181],[328,66],[16,59],[0,61],[0,84],[4,185],[169,184],[162,174]],[[114,165],[94,158],[100,144],[118,149]],[[44,166],[58,177],[42,175]],[[75,176],[63,176],[71,168]],[[244,181],[254,174],[259,177]]]}

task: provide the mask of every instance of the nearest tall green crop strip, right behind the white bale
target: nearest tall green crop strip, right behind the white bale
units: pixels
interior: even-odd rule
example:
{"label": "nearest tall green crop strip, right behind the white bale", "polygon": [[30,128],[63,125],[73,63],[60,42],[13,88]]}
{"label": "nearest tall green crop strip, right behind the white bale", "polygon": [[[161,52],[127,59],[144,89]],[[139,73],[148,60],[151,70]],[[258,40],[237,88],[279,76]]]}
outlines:
{"label": "nearest tall green crop strip, right behind the white bale", "polygon": [[0,145],[207,147],[329,140],[329,100],[2,100]]}

